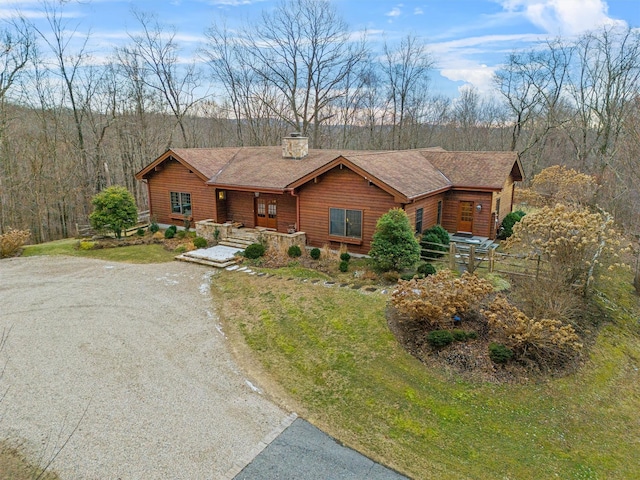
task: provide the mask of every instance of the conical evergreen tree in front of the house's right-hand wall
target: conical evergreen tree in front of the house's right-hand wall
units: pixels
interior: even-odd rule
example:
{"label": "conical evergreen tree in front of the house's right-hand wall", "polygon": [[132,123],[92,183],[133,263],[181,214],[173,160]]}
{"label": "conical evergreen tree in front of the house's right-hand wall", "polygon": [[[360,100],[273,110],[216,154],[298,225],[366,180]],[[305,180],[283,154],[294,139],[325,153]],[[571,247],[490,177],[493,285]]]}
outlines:
{"label": "conical evergreen tree in front of the house's right-hand wall", "polygon": [[382,271],[402,270],[420,260],[420,244],[404,210],[394,208],[378,219],[369,255]]}

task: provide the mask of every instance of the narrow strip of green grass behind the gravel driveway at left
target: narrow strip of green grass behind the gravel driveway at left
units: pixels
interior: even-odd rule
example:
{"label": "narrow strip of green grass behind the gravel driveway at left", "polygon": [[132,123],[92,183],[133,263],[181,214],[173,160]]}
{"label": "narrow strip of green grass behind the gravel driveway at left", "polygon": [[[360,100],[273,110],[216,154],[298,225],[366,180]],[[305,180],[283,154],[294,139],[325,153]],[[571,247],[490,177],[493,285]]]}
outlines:
{"label": "narrow strip of green grass behind the gravel driveway at left", "polygon": [[126,247],[101,248],[96,250],[76,249],[78,240],[64,239],[55,242],[28,245],[22,252],[23,257],[33,255],[70,255],[74,257],[98,258],[112,262],[162,263],[170,262],[176,254],[166,250],[160,244],[130,245]]}

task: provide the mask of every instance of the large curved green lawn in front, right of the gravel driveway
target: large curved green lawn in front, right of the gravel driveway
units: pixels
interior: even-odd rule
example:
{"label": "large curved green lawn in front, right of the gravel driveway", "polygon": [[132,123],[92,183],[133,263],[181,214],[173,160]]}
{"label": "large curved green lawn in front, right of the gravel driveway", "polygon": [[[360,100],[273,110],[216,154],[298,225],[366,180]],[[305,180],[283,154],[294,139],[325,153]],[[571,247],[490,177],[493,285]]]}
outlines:
{"label": "large curved green lawn in front, right of the gravel driveway", "polygon": [[[213,277],[221,317],[263,379],[340,441],[414,478],[637,478],[638,299],[579,373],[523,385],[427,370],[386,326],[387,297],[282,277]],[[258,379],[259,381],[259,379]]]}

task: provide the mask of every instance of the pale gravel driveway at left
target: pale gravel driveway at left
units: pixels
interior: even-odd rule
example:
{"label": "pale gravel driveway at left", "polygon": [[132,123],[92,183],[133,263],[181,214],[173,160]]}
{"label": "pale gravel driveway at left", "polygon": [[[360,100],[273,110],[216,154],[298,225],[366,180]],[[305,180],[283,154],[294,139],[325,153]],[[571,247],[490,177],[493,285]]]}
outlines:
{"label": "pale gravel driveway at left", "polygon": [[[0,438],[65,479],[224,479],[293,420],[240,373],[213,270],[0,261]],[[77,430],[73,432],[74,428]]]}

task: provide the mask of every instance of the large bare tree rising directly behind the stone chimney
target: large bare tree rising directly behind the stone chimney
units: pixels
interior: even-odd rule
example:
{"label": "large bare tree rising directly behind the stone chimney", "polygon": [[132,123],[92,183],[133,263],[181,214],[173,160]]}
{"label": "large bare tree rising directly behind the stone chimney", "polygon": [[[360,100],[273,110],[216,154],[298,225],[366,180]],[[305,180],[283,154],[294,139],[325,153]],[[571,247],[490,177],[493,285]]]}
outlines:
{"label": "large bare tree rising directly behind the stone chimney", "polygon": [[344,82],[365,57],[364,39],[350,39],[345,21],[328,0],[286,0],[244,32],[243,55],[253,72],[284,101],[265,105],[320,147],[328,108],[344,95]]}

